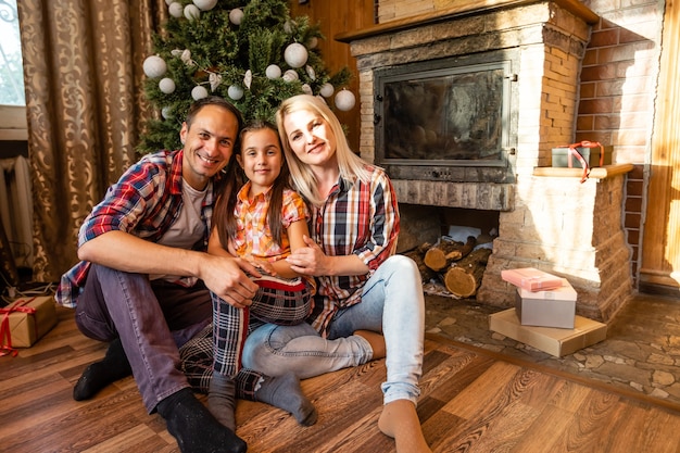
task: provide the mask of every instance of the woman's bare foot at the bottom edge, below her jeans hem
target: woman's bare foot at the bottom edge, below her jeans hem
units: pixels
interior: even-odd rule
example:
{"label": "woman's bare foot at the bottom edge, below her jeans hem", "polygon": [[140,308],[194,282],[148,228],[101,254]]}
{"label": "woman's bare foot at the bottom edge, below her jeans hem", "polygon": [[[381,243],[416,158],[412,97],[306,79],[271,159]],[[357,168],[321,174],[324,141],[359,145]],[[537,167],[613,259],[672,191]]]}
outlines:
{"label": "woman's bare foot at the bottom edge, below her jeans hem", "polygon": [[408,400],[396,400],[382,407],[378,428],[394,439],[396,453],[432,453],[420,428],[416,405]]}

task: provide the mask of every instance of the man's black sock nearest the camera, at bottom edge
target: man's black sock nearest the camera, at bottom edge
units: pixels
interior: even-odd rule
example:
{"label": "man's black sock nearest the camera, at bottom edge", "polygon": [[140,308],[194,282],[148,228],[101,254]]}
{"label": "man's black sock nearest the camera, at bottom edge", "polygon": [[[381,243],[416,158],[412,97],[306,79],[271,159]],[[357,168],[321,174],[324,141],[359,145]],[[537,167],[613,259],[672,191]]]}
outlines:
{"label": "man's black sock nearest the camera, at bottom edge", "polygon": [[244,453],[248,445],[196,399],[191,389],[171,394],[156,406],[182,453]]}

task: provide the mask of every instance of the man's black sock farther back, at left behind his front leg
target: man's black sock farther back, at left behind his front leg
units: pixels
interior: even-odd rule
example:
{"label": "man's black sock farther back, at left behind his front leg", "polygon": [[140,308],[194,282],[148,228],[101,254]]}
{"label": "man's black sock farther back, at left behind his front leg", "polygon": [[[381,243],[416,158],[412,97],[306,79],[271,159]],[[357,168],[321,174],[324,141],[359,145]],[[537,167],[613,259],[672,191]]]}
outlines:
{"label": "man's black sock farther back, at left behind his front leg", "polygon": [[127,361],[121,339],[116,338],[109,344],[106,355],[101,362],[96,362],[85,368],[73,388],[73,399],[89,400],[108,385],[131,374],[133,368]]}

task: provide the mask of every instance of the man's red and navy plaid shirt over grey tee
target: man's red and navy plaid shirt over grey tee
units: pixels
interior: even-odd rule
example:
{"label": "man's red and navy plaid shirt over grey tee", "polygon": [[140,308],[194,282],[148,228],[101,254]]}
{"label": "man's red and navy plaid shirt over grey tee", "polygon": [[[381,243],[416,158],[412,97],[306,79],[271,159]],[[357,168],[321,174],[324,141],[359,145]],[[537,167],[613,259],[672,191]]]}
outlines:
{"label": "man's red and navy plaid shirt over grey tee", "polygon": [[[121,230],[156,242],[177,218],[182,206],[181,162],[184,151],[160,151],[143,156],[106,191],[104,200],[85,218],[78,247],[106,231]],[[203,241],[194,249],[206,250],[213,214],[213,186],[209,184],[201,217]],[[75,307],[87,278],[90,263],[81,261],[61,278],[54,299]]]}

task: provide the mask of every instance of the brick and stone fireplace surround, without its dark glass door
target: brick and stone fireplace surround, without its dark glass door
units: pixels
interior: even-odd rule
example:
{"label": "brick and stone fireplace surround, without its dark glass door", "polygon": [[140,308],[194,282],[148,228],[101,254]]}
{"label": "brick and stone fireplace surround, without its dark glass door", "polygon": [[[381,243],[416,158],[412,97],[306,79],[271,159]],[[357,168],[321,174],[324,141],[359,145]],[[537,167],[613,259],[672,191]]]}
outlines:
{"label": "brick and stone fireplace surround, without its dark glass door", "polygon": [[513,97],[504,123],[509,141],[502,153],[513,177],[500,183],[393,177],[402,206],[400,250],[436,239],[442,226],[432,225],[432,218],[441,217],[431,215],[432,210],[498,213],[498,237],[477,300],[512,305],[515,288],[501,279],[501,270],[531,266],[571,282],[578,314],[608,320],[632,292],[630,250],[621,225],[629,168],[599,168],[583,184],[569,172],[546,168],[552,148],[574,139],[580,63],[590,26],[599,17],[576,0],[457,4],[336,37],[349,42],[356,58],[360,152],[370,162],[376,151],[380,154],[376,74],[417,62],[511,55]]}

